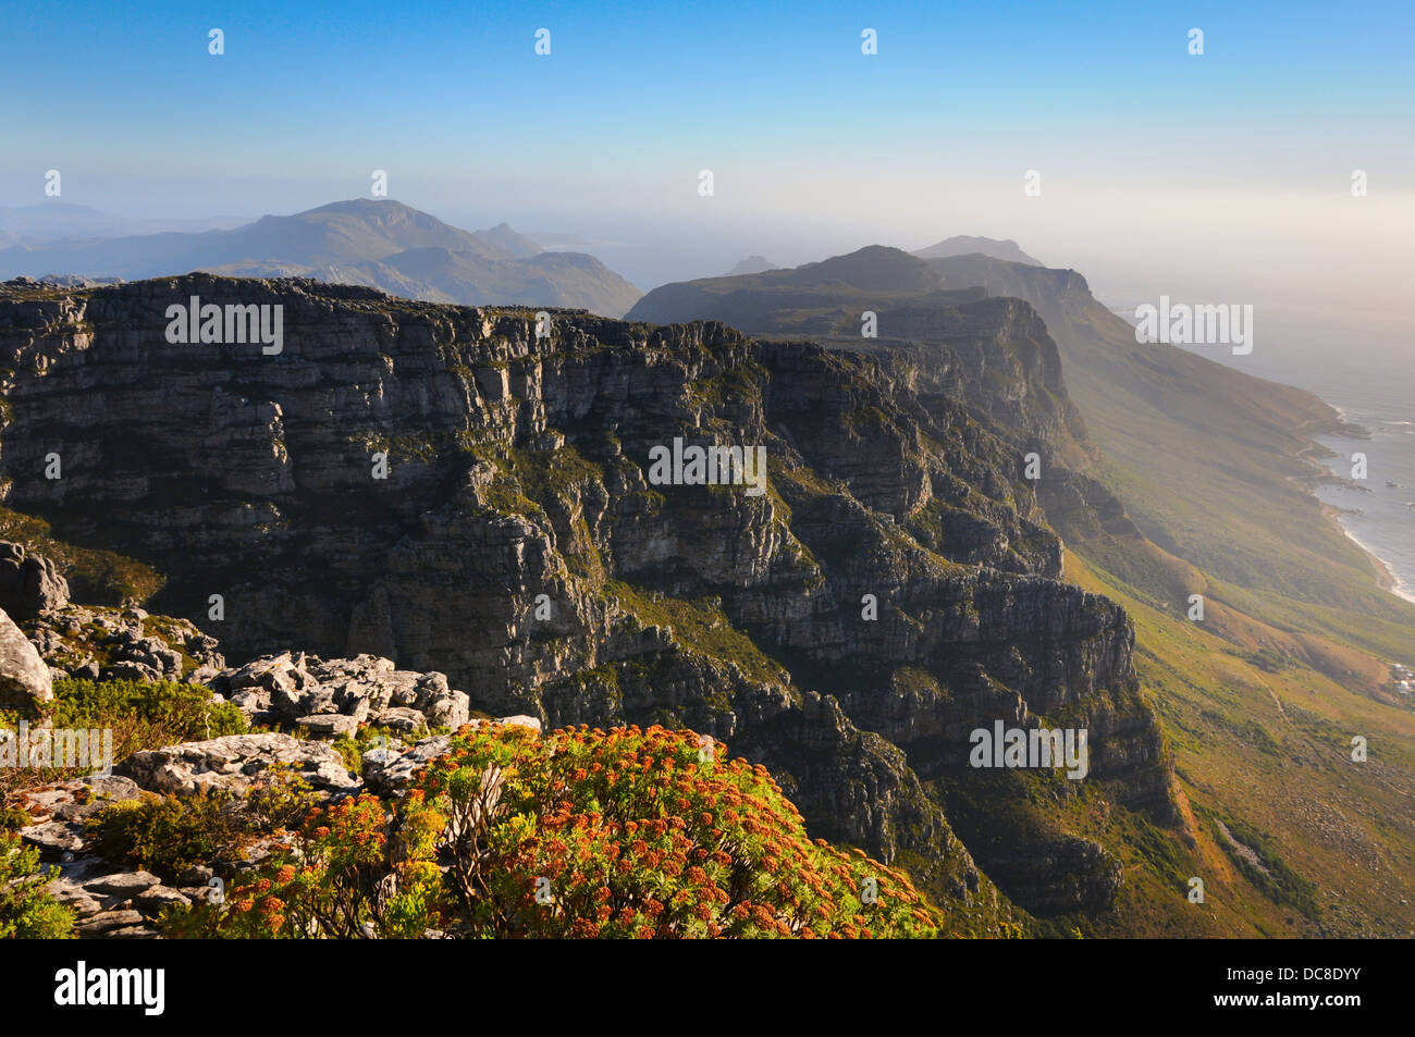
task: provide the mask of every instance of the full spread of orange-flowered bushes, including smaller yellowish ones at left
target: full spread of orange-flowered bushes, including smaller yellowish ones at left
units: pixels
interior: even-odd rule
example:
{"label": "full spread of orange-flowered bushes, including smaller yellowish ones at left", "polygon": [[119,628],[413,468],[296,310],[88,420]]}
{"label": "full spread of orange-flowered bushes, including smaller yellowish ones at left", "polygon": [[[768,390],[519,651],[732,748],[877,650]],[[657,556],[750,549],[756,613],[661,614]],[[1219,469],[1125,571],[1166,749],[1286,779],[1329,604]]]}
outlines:
{"label": "full spread of orange-flowered bushes, including smaller yellowish ones at left", "polygon": [[764,767],[662,727],[463,729],[385,815],[311,813],[224,908],[233,937],[913,937],[938,917],[899,871],[812,842]]}

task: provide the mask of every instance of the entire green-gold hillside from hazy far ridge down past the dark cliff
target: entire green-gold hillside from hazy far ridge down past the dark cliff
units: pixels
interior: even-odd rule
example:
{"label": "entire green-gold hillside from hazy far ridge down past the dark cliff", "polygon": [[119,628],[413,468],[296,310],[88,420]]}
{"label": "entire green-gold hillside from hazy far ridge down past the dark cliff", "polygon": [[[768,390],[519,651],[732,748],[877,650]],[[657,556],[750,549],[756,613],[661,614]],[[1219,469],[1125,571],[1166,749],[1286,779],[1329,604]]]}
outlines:
{"label": "entire green-gold hillside from hazy far ridge down past the dark cliff", "polygon": [[[1027,385],[1026,410],[990,402],[986,369],[940,388],[1003,423],[1029,416],[1060,464],[1081,473],[1054,471],[1039,499],[1071,549],[1065,579],[1131,610],[1143,693],[1176,758],[1177,832],[1006,777],[986,809],[968,789],[935,788],[965,840],[976,849],[1007,828],[1037,832],[1037,845],[1074,833],[1121,862],[1115,908],[1054,917],[1040,924],[1050,935],[1411,935],[1415,713],[1385,685],[1388,664],[1415,655],[1415,606],[1384,589],[1310,494],[1324,477],[1312,437],[1339,427],[1336,412],[1138,344],[1074,270],[961,255],[928,263],[941,287],[923,290],[910,272],[901,290],[880,291],[860,287],[853,267],[877,263],[883,276],[907,263],[872,249],[846,260],[849,284],[821,284],[816,265],[665,286],[638,308],[887,352],[952,378],[952,358],[969,355],[954,314],[981,306],[969,291],[1030,303],[1046,321],[1037,355],[1050,335],[1060,373]],[[880,314],[879,340],[859,337],[866,308]],[[942,341],[954,352],[941,364]],[[1203,622],[1187,618],[1193,594]],[[1356,736],[1365,763],[1351,760]],[[1204,904],[1187,897],[1196,877]]]}

